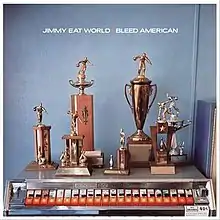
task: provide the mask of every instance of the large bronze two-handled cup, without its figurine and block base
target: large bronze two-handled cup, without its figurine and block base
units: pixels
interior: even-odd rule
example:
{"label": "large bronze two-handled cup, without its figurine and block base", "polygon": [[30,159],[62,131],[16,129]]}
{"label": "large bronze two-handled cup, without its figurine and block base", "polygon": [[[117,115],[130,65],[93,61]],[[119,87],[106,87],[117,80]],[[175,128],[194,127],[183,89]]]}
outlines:
{"label": "large bronze two-handled cup, without its figurine and block base", "polygon": [[[151,82],[152,81],[145,76],[137,76],[130,81],[130,85],[125,85],[125,97],[132,113],[134,114],[134,120],[137,128],[136,132],[129,137],[132,141],[151,141],[151,138],[143,131],[147,114],[157,95],[157,85],[152,85]],[[127,88],[129,88],[132,104],[128,99]],[[153,88],[154,95],[151,103],[149,104]]]}

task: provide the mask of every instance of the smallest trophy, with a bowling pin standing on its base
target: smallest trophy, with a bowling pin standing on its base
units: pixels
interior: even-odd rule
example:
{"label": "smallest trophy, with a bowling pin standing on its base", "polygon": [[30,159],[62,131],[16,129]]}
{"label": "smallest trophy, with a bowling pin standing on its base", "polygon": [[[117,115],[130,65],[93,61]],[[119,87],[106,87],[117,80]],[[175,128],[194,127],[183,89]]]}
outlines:
{"label": "smallest trophy, with a bowling pin standing on its base", "polygon": [[129,175],[128,168],[129,153],[125,147],[125,133],[120,130],[120,148],[117,150],[117,167],[114,167],[113,155],[110,155],[109,168],[104,170],[104,174],[109,175]]}

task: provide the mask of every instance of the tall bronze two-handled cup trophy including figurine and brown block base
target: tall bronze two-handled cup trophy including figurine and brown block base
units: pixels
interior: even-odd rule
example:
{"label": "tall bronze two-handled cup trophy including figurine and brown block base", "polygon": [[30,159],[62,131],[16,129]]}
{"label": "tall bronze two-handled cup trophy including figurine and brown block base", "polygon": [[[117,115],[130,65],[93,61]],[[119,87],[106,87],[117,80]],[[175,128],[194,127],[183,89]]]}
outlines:
{"label": "tall bronze two-handled cup trophy including figurine and brown block base", "polygon": [[[130,153],[130,166],[148,167],[151,155],[152,140],[144,133],[143,127],[147,114],[156,98],[157,86],[146,77],[146,64],[152,65],[146,53],[135,56],[134,61],[139,61],[138,74],[125,85],[125,97],[134,116],[136,132],[128,137]],[[154,93],[153,93],[154,91]],[[128,95],[129,93],[129,95]],[[131,97],[131,101],[128,97]],[[150,96],[152,100],[150,102]]]}

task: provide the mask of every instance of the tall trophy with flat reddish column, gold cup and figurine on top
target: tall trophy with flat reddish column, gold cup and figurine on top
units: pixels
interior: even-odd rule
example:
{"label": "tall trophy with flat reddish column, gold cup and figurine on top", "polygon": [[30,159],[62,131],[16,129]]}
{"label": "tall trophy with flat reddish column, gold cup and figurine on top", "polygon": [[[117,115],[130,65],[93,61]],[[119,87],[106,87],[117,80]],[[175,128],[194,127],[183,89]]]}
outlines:
{"label": "tall trophy with flat reddish column, gold cup and figurine on top", "polygon": [[85,89],[93,85],[94,80],[86,80],[87,65],[93,65],[87,57],[79,61],[76,67],[79,68],[77,80],[69,80],[69,84],[79,90],[78,94],[71,95],[71,111],[77,112],[82,121],[77,123],[78,135],[84,135],[83,150],[94,150],[94,116],[93,116],[93,95],[85,94]]}

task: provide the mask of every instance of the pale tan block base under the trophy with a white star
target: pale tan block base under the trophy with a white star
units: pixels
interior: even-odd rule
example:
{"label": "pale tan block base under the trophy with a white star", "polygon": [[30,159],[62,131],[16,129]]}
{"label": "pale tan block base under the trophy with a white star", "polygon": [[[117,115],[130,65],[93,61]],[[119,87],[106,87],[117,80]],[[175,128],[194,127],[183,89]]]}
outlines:
{"label": "pale tan block base under the trophy with a white star", "polygon": [[171,163],[167,163],[167,164],[151,163],[150,172],[151,174],[169,175],[169,174],[175,174],[176,169],[175,169],[175,165]]}

